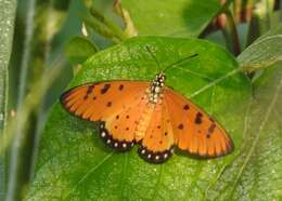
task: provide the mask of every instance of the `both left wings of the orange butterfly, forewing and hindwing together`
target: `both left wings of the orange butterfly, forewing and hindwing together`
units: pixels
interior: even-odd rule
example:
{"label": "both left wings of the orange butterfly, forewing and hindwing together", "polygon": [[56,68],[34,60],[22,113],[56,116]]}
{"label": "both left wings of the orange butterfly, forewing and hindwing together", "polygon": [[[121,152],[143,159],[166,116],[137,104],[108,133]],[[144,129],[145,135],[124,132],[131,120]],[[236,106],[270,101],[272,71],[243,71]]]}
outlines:
{"label": "both left wings of the orange butterfly, forewing and hindwing together", "polygon": [[111,147],[126,151],[134,144],[134,129],[145,108],[149,82],[112,81],[73,88],[61,96],[70,113],[100,121],[100,136]]}

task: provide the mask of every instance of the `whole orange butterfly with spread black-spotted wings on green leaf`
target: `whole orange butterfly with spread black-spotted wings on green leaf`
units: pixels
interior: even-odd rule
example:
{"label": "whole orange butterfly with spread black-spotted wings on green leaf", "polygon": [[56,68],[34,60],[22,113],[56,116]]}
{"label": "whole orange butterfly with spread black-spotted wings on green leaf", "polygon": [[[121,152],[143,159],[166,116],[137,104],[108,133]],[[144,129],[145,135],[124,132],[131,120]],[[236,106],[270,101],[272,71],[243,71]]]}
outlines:
{"label": "whole orange butterfly with spread black-spotted wings on green leaf", "polygon": [[61,103],[81,119],[99,121],[99,133],[106,145],[128,151],[139,143],[140,157],[152,163],[170,158],[175,145],[202,158],[231,152],[233,143],[225,129],[165,86],[165,79],[161,72],[152,82],[87,83],[63,93]]}

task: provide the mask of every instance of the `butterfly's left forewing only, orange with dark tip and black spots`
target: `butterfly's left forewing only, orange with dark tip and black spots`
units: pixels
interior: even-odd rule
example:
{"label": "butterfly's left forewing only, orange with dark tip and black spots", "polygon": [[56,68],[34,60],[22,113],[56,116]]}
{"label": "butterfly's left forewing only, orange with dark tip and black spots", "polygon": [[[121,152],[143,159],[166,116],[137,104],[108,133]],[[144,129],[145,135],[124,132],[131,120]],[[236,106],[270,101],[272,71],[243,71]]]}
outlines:
{"label": "butterfly's left forewing only, orange with dark tip and black spots", "polygon": [[87,83],[66,91],[61,103],[70,113],[90,121],[106,121],[145,91],[149,82],[111,81]]}

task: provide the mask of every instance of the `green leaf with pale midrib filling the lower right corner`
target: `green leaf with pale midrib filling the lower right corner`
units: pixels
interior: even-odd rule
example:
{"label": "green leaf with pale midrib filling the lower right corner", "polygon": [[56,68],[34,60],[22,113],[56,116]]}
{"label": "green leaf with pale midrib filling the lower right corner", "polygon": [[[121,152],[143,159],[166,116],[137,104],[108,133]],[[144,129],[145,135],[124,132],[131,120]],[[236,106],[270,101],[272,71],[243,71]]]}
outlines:
{"label": "green leaf with pale midrib filling the lower right corner", "polygon": [[210,188],[210,200],[282,198],[282,68],[272,66],[254,83],[242,153]]}

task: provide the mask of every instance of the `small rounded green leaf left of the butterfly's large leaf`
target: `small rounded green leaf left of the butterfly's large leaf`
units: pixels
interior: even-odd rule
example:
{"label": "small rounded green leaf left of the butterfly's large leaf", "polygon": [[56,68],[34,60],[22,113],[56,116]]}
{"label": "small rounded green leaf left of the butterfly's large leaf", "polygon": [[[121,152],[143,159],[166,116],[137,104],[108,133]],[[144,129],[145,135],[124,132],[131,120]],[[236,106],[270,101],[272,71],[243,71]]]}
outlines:
{"label": "small rounded green leaf left of the butterfly's large leaf", "polygon": [[74,37],[66,45],[66,55],[73,65],[82,64],[98,52],[97,45],[86,37]]}

